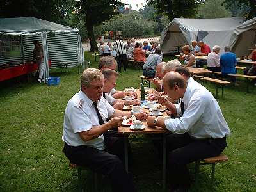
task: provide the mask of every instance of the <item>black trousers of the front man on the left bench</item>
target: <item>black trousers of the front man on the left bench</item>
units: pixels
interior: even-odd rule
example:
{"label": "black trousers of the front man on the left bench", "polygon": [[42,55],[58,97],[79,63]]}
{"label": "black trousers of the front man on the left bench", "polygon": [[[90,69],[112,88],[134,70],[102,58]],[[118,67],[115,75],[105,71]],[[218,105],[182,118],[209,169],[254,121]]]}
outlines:
{"label": "black trousers of the front man on the left bench", "polygon": [[124,157],[124,142],[120,137],[115,141],[106,150],[86,145],[73,147],[65,143],[63,152],[72,163],[105,175],[111,182],[112,191],[136,191],[132,176],[125,171],[124,163],[120,160]]}

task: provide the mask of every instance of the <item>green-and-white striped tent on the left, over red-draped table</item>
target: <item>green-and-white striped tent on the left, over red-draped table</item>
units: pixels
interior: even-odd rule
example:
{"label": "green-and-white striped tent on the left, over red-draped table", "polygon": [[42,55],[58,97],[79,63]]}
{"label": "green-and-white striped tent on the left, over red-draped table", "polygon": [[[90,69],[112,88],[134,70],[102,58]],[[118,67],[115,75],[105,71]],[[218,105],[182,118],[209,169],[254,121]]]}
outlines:
{"label": "green-and-white striped tent on the left, over red-draped table", "polygon": [[33,40],[42,40],[44,50],[44,82],[49,77],[48,58],[52,67],[68,67],[83,63],[84,54],[79,30],[35,17],[0,18],[1,36],[18,37],[20,55],[1,56],[0,65],[33,58]]}

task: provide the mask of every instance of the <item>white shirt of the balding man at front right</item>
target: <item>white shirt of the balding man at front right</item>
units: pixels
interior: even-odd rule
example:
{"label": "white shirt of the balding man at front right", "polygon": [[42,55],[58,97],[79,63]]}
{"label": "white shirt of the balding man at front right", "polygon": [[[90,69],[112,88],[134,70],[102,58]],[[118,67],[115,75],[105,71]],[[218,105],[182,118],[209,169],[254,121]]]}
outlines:
{"label": "white shirt of the balding man at front right", "polygon": [[[218,102],[204,86],[193,81],[188,83],[182,101],[183,116],[164,121],[169,131],[177,134],[188,132],[191,137],[198,139],[223,138],[230,135]],[[179,108],[177,114],[180,113]]]}

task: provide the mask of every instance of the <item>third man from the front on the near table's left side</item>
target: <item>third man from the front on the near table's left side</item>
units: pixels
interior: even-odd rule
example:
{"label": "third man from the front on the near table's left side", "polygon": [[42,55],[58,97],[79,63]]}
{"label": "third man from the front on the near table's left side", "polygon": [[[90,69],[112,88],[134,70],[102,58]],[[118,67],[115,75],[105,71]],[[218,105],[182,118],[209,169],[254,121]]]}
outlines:
{"label": "third man from the front on the near table's left side", "polygon": [[[116,65],[117,65],[117,63],[116,63],[116,60],[113,56],[104,56],[104,57],[100,58],[98,68],[99,68],[100,71],[104,70],[105,68],[116,70]],[[126,95],[137,98],[137,93],[136,92],[129,92],[128,93],[128,92],[115,90],[115,88],[112,88],[110,93],[111,93],[112,97],[114,97],[116,99],[122,99]]]}

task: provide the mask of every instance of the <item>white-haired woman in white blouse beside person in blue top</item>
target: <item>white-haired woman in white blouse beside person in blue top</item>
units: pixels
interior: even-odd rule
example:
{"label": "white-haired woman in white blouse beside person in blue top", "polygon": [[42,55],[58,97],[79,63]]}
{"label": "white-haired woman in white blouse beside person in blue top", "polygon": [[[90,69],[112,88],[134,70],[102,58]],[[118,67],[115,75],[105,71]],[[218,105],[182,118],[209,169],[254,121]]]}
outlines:
{"label": "white-haired woman in white blouse beside person in blue top", "polygon": [[215,45],[212,47],[212,52],[207,56],[207,69],[211,71],[221,71],[220,67],[220,46]]}

